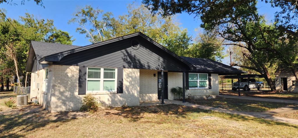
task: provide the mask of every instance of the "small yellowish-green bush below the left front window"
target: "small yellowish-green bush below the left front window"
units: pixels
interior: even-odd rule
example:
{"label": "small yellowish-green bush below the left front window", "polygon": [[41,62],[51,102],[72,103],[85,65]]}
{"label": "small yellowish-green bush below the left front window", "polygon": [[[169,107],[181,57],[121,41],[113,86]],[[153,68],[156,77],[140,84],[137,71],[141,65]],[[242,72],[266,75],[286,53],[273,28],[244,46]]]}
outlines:
{"label": "small yellowish-green bush below the left front window", "polygon": [[82,100],[81,111],[89,111],[89,113],[94,113],[101,108],[101,104],[92,95],[86,95]]}

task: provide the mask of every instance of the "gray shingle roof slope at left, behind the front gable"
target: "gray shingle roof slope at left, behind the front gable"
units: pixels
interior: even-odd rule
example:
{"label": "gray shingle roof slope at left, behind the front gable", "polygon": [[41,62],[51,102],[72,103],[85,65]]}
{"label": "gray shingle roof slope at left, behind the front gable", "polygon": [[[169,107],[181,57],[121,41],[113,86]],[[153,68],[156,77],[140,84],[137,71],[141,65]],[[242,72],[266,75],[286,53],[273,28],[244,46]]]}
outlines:
{"label": "gray shingle roof slope at left, behind the front gable", "polygon": [[40,60],[41,58],[51,54],[56,54],[56,53],[81,47],[81,46],[72,46],[72,45],[66,45],[66,44],[56,44],[56,43],[47,43],[47,42],[38,42],[38,41],[31,41],[31,44],[36,54],[37,60]]}

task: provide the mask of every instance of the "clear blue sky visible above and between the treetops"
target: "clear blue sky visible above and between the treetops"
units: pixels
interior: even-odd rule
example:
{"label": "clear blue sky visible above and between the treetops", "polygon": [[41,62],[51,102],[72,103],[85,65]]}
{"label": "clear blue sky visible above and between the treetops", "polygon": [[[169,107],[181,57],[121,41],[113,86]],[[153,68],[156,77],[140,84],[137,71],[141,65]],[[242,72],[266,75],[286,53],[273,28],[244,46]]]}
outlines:
{"label": "clear blue sky visible above and between the treetops", "polygon": [[[127,4],[131,4],[134,1],[58,1],[58,0],[44,0],[44,7],[38,6],[34,1],[25,1],[24,5],[21,5],[21,1],[14,0],[14,3],[18,4],[16,6],[9,4],[1,4],[0,8],[7,10],[6,15],[13,19],[19,19],[19,16],[24,16],[26,12],[33,14],[39,19],[52,19],[54,20],[54,25],[56,28],[70,33],[75,41],[73,45],[85,46],[91,44],[85,35],[75,32],[76,25],[68,24],[68,21],[72,18],[72,13],[74,13],[77,7],[84,7],[85,5],[91,5],[93,7],[98,7],[104,12],[112,12],[115,17],[119,15],[127,14]],[[135,1],[136,4],[141,4],[141,1]],[[266,4],[264,1],[259,1],[258,3],[259,13],[264,14],[267,20],[273,20],[274,12],[279,10],[278,8],[271,8],[270,4]],[[178,14],[176,18],[180,22],[182,28],[187,28],[187,31],[193,37],[196,36],[195,29],[202,31],[199,28],[201,21],[200,19],[193,18],[194,15],[188,15],[187,13]],[[229,57],[223,60],[224,64],[229,64]]]}

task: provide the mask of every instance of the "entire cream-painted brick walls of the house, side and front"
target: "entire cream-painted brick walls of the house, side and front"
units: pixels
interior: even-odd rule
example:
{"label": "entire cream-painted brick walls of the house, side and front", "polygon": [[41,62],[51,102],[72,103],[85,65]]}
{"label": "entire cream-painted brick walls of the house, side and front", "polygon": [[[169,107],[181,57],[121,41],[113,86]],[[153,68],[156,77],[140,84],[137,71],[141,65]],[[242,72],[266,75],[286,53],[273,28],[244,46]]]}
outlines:
{"label": "entire cream-painted brick walls of the house, side and front", "polygon": [[[37,96],[39,103],[51,112],[79,110],[85,95],[78,95],[78,66],[51,65],[48,67],[48,88],[43,92],[45,70],[39,70],[36,75],[35,86],[31,81],[30,98]],[[34,78],[34,73],[31,79]],[[156,74],[154,77],[153,74]],[[123,69],[122,94],[94,94],[103,106],[122,105],[135,106],[140,101],[156,101],[157,98],[157,70]],[[39,83],[39,90],[36,85]],[[182,87],[182,73],[168,72],[168,99],[173,100],[173,87]],[[218,95],[218,74],[212,74],[212,89],[188,90],[193,97]]]}

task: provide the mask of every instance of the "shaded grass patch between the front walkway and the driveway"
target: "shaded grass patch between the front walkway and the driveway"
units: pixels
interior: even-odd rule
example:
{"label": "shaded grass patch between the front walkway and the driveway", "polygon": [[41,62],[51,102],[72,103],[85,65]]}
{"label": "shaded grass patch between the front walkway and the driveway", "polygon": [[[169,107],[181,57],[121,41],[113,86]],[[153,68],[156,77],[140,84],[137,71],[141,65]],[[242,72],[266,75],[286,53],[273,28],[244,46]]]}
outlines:
{"label": "shaded grass patch between the front walkway and the driveway", "polygon": [[200,99],[190,100],[188,102],[206,105],[210,107],[219,107],[228,110],[246,111],[246,112],[263,112],[267,110],[285,107],[288,104],[278,102],[263,102],[254,100],[229,99],[223,97],[216,97],[214,99]]}

